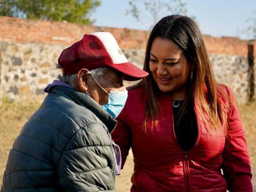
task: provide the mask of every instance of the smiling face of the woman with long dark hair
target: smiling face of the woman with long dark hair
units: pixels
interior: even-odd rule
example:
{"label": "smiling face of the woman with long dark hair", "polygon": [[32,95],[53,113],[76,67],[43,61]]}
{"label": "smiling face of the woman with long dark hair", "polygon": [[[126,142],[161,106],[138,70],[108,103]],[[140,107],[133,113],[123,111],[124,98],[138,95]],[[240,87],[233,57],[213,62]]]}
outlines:
{"label": "smiling face of the woman with long dark hair", "polygon": [[173,100],[184,99],[190,70],[188,60],[176,44],[156,37],[150,50],[149,68],[162,92],[172,93]]}

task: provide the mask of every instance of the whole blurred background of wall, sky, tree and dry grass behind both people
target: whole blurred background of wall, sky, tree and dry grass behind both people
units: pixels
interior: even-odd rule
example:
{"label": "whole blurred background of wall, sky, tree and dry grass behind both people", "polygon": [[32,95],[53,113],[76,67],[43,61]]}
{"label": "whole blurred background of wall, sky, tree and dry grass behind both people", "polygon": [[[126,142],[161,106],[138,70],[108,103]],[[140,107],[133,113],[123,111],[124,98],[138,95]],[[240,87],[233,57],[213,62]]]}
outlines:
{"label": "whole blurred background of wall, sky, tree and dry grass behind both people", "polygon": [[[0,0],[0,186],[15,138],[61,73],[60,52],[86,33],[107,31],[142,68],[150,29],[170,14],[192,17],[204,34],[215,77],[239,104],[256,174],[256,0]],[[118,192],[130,190],[132,172],[130,151]]]}

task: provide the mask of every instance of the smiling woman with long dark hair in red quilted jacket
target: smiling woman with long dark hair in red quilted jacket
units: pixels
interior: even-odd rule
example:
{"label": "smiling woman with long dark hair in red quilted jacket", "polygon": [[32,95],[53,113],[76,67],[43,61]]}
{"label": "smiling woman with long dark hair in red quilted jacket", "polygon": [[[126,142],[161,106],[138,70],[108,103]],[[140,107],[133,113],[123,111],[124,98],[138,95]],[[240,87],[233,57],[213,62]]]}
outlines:
{"label": "smiling woman with long dark hair in red quilted jacket", "polygon": [[149,75],[128,88],[112,133],[122,166],[132,147],[131,191],[252,192],[236,101],[216,83],[196,23],[181,15],[161,19],[149,36],[144,70]]}

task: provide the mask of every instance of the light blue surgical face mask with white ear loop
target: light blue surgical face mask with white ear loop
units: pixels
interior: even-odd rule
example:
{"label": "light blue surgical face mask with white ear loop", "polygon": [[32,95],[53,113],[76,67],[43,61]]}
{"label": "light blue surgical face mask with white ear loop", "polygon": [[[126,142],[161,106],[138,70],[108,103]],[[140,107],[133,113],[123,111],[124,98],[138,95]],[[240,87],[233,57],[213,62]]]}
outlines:
{"label": "light blue surgical face mask with white ear loop", "polygon": [[[96,79],[92,76],[96,81]],[[96,83],[101,87],[101,85],[96,81]],[[101,106],[105,111],[107,111],[113,118],[116,118],[124,108],[125,102],[128,97],[128,91],[110,91],[109,93],[101,87],[108,94],[108,103]]]}

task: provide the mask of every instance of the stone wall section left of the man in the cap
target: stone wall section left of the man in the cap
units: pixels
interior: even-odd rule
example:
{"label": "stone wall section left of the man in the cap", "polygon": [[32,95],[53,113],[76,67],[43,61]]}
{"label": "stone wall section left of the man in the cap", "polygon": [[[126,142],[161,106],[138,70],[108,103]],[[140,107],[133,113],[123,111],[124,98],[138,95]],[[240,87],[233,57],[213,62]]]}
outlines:
{"label": "stone wall section left of the man in the cap", "polygon": [[45,85],[60,74],[55,63],[63,45],[0,43],[1,98],[9,101],[44,98]]}

